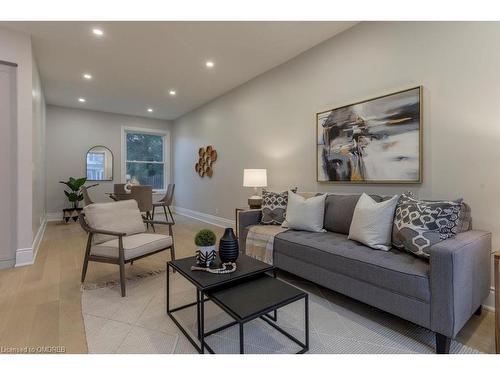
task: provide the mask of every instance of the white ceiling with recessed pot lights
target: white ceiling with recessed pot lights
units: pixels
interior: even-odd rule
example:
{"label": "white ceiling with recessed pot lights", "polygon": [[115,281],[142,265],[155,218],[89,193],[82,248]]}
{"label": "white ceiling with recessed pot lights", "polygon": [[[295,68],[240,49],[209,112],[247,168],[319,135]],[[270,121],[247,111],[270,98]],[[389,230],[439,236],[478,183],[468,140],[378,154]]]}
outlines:
{"label": "white ceiling with recessed pot lights", "polygon": [[[1,22],[32,35],[48,104],[176,119],[354,22]],[[97,37],[93,28],[104,35]],[[215,66],[205,66],[211,60]],[[83,73],[90,73],[85,80]],[[175,90],[176,95],[169,95]],[[85,98],[79,103],[78,98]],[[152,108],[153,112],[148,112]]]}

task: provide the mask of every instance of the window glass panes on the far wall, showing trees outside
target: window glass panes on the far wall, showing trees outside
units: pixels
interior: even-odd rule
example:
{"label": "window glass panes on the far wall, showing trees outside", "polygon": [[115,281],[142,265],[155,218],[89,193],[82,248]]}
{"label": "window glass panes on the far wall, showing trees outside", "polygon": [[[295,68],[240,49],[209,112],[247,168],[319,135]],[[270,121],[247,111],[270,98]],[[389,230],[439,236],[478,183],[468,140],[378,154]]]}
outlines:
{"label": "window glass panes on the far wall, showing trees outside", "polygon": [[124,129],[125,181],[137,180],[141,185],[151,185],[153,190],[165,190],[166,135],[144,129]]}

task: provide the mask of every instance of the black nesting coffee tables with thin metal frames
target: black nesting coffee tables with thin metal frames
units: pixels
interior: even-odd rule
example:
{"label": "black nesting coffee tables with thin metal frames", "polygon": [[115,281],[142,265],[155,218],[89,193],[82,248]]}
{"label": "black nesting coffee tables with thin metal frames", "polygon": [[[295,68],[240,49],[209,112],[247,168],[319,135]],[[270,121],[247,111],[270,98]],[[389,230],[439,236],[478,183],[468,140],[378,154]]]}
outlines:
{"label": "black nesting coffee tables with thin metal frames", "polygon": [[[240,331],[240,353],[244,353],[244,324],[261,318],[271,327],[294,341],[301,347],[298,353],[309,350],[309,306],[307,293],[275,278],[273,266],[241,254],[237,261],[237,270],[230,274],[211,274],[191,271],[195,264],[194,257],[167,262],[167,314],[179,327],[181,332],[198,350],[209,353],[214,350],[206,343],[205,338],[223,331],[236,324]],[[186,305],[170,308],[170,268],[179,272],[196,287],[196,301]],[[273,276],[270,276],[272,274]],[[278,326],[277,310],[292,302],[304,299],[305,342],[301,342]],[[234,321],[221,327],[205,332],[204,302],[211,300],[228,313]],[[174,313],[196,305],[197,339],[193,338]],[[197,342],[198,341],[198,342]]]}

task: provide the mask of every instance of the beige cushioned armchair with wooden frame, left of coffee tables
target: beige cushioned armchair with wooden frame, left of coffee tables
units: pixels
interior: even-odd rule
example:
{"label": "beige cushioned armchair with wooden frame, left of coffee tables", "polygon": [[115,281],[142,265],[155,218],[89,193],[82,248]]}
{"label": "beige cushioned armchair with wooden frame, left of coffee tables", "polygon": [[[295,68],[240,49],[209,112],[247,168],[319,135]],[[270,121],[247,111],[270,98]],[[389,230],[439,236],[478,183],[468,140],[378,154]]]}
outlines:
{"label": "beige cushioned armchair with wooden frame, left of coffee tables", "polygon": [[[125,297],[126,263],[168,249],[171,259],[175,259],[173,223],[143,219],[133,199],[88,205],[79,220],[88,233],[82,283],[90,261],[117,264],[120,266],[122,297]],[[148,233],[145,224],[168,225],[169,235]]]}

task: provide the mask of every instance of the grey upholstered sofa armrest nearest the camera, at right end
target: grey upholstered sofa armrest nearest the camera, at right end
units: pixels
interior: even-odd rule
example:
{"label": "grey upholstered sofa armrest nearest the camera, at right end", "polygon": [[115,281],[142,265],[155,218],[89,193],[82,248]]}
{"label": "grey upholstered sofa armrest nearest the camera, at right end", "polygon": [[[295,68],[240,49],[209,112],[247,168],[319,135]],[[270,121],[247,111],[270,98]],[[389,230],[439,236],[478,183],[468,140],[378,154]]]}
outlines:
{"label": "grey upholstered sofa armrest nearest the camera, at right end", "polygon": [[490,291],[491,233],[470,230],[430,248],[431,329],[455,337]]}

